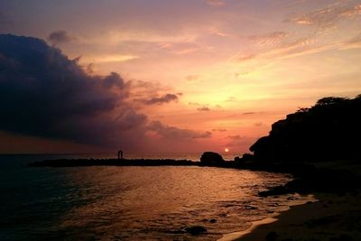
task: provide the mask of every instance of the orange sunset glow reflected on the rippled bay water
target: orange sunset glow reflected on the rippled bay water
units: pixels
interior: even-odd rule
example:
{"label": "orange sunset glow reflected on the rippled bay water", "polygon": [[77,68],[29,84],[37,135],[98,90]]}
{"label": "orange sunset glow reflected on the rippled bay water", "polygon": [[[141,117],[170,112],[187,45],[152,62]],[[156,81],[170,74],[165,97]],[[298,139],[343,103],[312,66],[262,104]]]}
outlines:
{"label": "orange sunset glow reflected on the rippled bay water", "polygon": [[58,231],[74,239],[197,239],[182,230],[199,225],[208,229],[202,240],[215,240],[290,202],[255,195],[289,181],[283,174],[199,167],[67,170],[78,187],[73,199],[83,203],[62,215]]}

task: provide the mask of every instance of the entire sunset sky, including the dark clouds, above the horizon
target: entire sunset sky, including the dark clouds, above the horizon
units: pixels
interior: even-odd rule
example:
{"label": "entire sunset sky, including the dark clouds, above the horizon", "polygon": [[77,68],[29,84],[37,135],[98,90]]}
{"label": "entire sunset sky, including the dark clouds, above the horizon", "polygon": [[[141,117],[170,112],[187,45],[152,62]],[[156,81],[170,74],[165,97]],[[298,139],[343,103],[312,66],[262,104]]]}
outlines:
{"label": "entire sunset sky, including the dark clouds, above the horizon", "polygon": [[356,0],[0,0],[0,33],[0,153],[241,155],[361,93]]}

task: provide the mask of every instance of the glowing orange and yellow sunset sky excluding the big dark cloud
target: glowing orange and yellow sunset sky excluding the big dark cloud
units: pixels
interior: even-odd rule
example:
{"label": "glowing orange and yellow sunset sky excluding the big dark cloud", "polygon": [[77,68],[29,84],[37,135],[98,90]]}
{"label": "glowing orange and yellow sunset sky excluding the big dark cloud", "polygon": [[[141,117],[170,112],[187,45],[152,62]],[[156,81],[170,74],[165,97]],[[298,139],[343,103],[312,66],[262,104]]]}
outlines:
{"label": "glowing orange and yellow sunset sky excluding the big dark cloud", "polygon": [[[361,93],[361,1],[8,1],[0,32],[34,36],[90,75],[117,72],[150,121],[210,133],[134,152],[247,152],[273,122],[320,97]],[[55,33],[52,35],[51,32]],[[58,33],[58,35],[56,35]],[[146,83],[146,84],[144,84]],[[141,105],[143,97],[176,97]],[[1,153],[108,151],[0,132]],[[7,141],[11,140],[11,141]]]}

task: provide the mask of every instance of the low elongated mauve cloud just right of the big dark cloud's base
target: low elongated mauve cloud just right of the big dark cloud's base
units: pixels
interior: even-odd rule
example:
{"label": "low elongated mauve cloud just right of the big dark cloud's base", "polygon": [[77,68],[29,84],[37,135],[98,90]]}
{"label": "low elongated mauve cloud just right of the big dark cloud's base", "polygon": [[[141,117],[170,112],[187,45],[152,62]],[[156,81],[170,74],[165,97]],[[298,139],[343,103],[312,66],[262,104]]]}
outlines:
{"label": "low elongated mauve cloud just right of the big dark cloud's base", "polygon": [[164,138],[177,140],[209,138],[212,135],[210,132],[197,132],[189,129],[180,129],[170,125],[163,125],[159,121],[153,121],[147,128],[148,130],[160,134]]}

